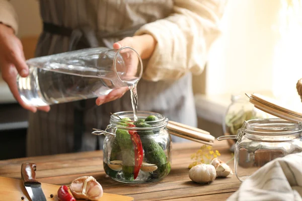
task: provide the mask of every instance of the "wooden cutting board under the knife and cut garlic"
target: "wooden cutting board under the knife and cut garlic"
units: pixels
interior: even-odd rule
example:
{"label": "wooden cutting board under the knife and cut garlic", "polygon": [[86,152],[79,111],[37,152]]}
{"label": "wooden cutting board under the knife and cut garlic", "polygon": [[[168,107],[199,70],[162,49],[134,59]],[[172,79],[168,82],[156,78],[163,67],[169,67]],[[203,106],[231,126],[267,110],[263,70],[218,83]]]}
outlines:
{"label": "wooden cutting board under the knife and cut garlic", "polygon": [[[57,191],[59,189],[59,185],[42,183],[42,190],[45,194],[46,200],[57,201]],[[50,194],[53,194],[53,197],[50,197]],[[0,200],[21,200],[21,197],[24,197],[25,201],[31,200],[29,199],[29,195],[26,192],[26,189],[23,185],[21,179],[13,179],[7,177],[0,177]],[[83,199],[82,199],[83,200]],[[103,193],[103,196],[99,199],[99,201],[132,201],[133,197]]]}

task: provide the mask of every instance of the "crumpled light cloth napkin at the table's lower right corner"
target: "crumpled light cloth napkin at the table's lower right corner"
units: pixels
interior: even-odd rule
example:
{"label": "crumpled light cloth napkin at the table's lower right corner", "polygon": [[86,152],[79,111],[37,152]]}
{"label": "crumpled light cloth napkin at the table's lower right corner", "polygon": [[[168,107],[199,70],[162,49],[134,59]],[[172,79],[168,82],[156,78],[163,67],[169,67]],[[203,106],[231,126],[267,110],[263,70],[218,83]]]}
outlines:
{"label": "crumpled light cloth napkin at the table's lower right corner", "polygon": [[242,182],[227,200],[302,200],[302,153],[276,158]]}

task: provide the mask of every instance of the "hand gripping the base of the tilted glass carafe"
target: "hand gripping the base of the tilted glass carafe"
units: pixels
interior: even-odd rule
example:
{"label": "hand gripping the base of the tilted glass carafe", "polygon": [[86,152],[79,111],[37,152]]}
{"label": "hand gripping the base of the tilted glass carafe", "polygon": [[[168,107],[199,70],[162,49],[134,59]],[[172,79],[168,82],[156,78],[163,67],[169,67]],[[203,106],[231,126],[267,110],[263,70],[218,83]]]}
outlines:
{"label": "hand gripping the base of the tilted glass carafe", "polygon": [[25,109],[36,112],[42,110],[48,112],[49,106],[36,108],[29,106],[23,102],[20,97],[16,77],[19,73],[22,77],[26,77],[29,73],[23,47],[21,41],[15,36],[14,30],[0,23],[0,69],[2,78],[6,81],[18,103]]}

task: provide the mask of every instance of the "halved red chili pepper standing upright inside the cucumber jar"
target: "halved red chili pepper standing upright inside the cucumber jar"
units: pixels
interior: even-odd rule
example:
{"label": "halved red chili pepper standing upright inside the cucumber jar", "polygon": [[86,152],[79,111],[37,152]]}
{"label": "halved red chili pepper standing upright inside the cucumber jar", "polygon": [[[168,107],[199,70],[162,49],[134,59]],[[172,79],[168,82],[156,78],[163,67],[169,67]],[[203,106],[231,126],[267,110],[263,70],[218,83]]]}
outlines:
{"label": "halved red chili pepper standing upright inside the cucumber jar", "polygon": [[[128,124],[128,126],[135,127],[135,125],[133,124]],[[129,130],[128,133],[132,136],[131,139],[134,146],[134,155],[135,155],[134,179],[136,179],[142,163],[142,153],[143,153],[142,145],[141,145],[140,137],[135,130]]]}

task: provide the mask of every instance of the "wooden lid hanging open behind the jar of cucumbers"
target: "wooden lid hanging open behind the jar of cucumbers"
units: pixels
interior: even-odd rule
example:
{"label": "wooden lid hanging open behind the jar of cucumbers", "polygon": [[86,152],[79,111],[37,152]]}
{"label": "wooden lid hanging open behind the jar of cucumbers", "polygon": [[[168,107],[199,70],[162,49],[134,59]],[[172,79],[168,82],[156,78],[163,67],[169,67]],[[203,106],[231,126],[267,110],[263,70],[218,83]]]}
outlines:
{"label": "wooden lid hanging open behind the jar of cucumbers", "polygon": [[215,140],[215,137],[210,135],[207,131],[170,120],[168,121],[166,128],[171,135],[202,144],[213,145]]}

